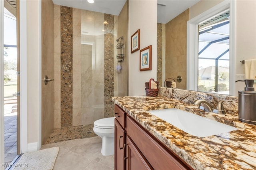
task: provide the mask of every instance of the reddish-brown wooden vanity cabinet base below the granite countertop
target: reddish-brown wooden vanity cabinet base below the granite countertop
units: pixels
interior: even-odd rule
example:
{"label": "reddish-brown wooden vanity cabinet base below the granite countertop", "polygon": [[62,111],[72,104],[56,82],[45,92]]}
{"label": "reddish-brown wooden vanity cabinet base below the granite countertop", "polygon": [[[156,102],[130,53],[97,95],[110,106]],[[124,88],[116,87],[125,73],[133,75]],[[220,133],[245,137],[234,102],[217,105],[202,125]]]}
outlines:
{"label": "reddish-brown wooden vanity cabinet base below the granite countertop", "polygon": [[192,169],[118,105],[114,111],[116,170]]}

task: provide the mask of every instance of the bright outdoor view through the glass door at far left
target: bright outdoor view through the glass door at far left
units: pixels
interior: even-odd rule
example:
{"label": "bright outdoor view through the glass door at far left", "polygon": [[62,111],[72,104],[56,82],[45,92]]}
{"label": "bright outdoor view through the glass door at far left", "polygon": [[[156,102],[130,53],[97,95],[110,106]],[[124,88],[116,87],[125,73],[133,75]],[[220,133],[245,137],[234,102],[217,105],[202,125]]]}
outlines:
{"label": "bright outdoor view through the glass door at far left", "polygon": [[[4,162],[17,156],[16,17],[4,8]],[[8,168],[7,168],[8,169]]]}

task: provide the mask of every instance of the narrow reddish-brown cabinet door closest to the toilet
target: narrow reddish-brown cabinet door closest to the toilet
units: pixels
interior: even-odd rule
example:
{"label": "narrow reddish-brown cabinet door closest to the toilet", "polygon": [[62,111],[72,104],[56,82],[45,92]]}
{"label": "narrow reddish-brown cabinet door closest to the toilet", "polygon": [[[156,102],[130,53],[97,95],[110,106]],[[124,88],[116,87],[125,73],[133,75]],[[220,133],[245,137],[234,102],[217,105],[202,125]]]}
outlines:
{"label": "narrow reddish-brown cabinet door closest to the toilet", "polygon": [[125,170],[124,160],[124,144],[126,142],[126,133],[115,119],[115,155],[114,155],[114,168],[115,170]]}

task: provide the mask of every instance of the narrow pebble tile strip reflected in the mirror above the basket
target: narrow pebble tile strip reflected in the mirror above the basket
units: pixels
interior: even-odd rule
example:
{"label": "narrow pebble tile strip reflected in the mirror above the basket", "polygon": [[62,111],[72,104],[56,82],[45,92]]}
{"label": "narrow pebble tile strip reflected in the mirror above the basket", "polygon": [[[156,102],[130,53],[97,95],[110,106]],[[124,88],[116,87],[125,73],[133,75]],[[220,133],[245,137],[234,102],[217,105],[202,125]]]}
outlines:
{"label": "narrow pebble tile strip reflected in the mirror above the basket", "polygon": [[157,81],[162,86],[162,24],[157,23]]}

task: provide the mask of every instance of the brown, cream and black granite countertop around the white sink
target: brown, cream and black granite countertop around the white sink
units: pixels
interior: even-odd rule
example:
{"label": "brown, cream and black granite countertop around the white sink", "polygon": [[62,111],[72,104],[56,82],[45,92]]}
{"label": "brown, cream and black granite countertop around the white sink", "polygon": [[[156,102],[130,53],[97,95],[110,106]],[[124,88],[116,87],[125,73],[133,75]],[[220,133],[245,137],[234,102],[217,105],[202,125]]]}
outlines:
{"label": "brown, cream and black granite countertop around the white sink", "polygon": [[[194,169],[256,169],[256,125],[242,123],[236,115],[209,113],[166,97],[127,96],[112,100]],[[189,111],[238,130],[197,137],[147,112],[167,108]]]}

